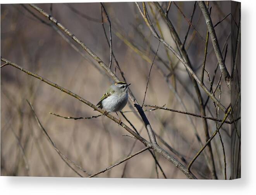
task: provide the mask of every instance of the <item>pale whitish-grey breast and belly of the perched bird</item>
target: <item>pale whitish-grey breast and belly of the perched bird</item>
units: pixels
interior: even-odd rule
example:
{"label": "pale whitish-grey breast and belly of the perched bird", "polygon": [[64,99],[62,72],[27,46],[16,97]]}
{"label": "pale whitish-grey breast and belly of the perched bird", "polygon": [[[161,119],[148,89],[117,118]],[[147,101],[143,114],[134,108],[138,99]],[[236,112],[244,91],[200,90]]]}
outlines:
{"label": "pale whitish-grey breast and belly of the perched bird", "polygon": [[103,109],[107,112],[117,112],[124,108],[128,101],[128,92],[122,94],[113,94],[102,101]]}

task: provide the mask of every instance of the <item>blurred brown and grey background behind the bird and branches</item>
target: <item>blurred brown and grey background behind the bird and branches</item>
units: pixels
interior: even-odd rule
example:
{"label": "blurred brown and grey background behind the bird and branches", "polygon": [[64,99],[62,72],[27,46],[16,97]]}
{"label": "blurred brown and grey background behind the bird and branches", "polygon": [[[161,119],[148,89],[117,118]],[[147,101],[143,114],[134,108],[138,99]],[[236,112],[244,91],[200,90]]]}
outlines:
{"label": "blurred brown and grey background behind the bird and branches", "polygon": [[[167,10],[170,5],[169,2],[158,3],[163,10]],[[193,1],[176,3],[188,19],[191,18],[193,8],[196,6],[192,24],[205,39],[207,28],[199,5]],[[142,8],[142,3],[139,5]],[[37,6],[55,17],[103,62],[109,64],[110,48],[101,24],[100,3],[45,3]],[[104,3],[104,6],[111,21],[113,53],[127,83],[131,83],[130,90],[142,104],[149,68],[158,47],[158,40],[152,36],[135,3]],[[155,4],[147,2],[146,6],[156,30],[178,51],[170,29]],[[232,5],[230,1],[215,1],[209,4],[213,24],[222,21],[232,12],[232,15],[215,27],[220,48],[224,48],[225,51],[228,44],[225,63],[229,72],[233,67],[237,34],[235,22],[239,23],[239,6],[240,4]],[[168,17],[183,43],[189,24],[174,3],[170,5]],[[103,24],[109,39],[109,26],[104,14]],[[72,44],[78,48],[79,52]],[[200,78],[205,43],[192,27],[188,31],[184,47],[194,71]],[[97,104],[107,87],[113,84],[113,80],[103,72],[93,58],[27,4],[1,4],[1,56],[75,92],[93,104]],[[215,75],[216,65],[216,55],[209,39],[205,69],[209,72],[211,79]],[[175,76],[168,75],[171,68],[174,69]],[[240,91],[240,65],[237,68],[235,82],[238,87],[234,94]],[[111,69],[120,80],[123,80],[114,59]],[[1,68],[0,75],[1,176],[79,176],[67,166],[43,135],[26,99],[34,106],[36,115],[56,147],[88,173],[96,173],[124,159],[130,153],[143,149],[144,145],[141,142],[122,136],[127,134],[124,128],[105,116],[74,120],[50,114],[72,117],[89,117],[99,114],[58,89],[11,66]],[[220,69],[217,68],[213,82],[214,90],[220,75]],[[227,107],[232,93],[223,78],[220,83],[221,91],[218,88],[215,96],[217,99],[220,98],[221,103]],[[204,84],[210,89],[211,84],[207,73],[204,74]],[[208,96],[203,90],[201,94],[205,103]],[[161,43],[151,71],[145,104],[165,105],[168,108],[200,115],[198,98],[184,65]],[[239,106],[240,104],[236,109],[237,117],[240,116]],[[146,110],[145,114],[159,136],[157,137],[159,145],[187,166],[201,148],[195,132],[203,143],[206,142],[202,119],[159,109],[149,111],[152,109],[150,107],[143,109]],[[123,111],[136,130],[141,132],[141,136],[149,140],[144,123],[136,113],[129,112],[131,108],[128,104]],[[115,116],[115,113],[113,115]],[[207,103],[206,116],[216,118],[215,106],[211,99]],[[131,127],[122,116],[120,117]],[[223,118],[222,111],[219,118]],[[207,122],[211,135],[216,130],[216,122],[212,120]],[[240,125],[239,120],[236,122],[239,132]],[[234,129],[234,124],[224,124],[220,130],[227,161],[227,179],[239,178],[241,171],[240,143],[237,138],[234,140]],[[160,139],[175,149],[176,153],[170,151]],[[218,179],[223,179],[223,150],[218,135],[211,142],[211,148],[216,174]],[[194,162],[191,171],[200,179],[210,179],[206,150],[203,153]],[[186,178],[179,169],[162,156],[156,154],[156,159],[167,178]],[[88,176],[72,164],[70,166],[82,176]],[[164,178],[159,168],[156,171],[155,160],[149,151],[97,177]]]}

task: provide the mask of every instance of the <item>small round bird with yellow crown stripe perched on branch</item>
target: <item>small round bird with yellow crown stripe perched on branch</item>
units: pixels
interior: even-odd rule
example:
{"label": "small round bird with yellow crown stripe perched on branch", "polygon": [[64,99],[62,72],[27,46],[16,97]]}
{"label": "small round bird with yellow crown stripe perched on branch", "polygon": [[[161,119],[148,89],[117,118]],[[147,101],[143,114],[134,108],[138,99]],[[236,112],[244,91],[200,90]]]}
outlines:
{"label": "small round bird with yellow crown stripe perched on branch", "polygon": [[[108,112],[115,112],[117,114],[117,111],[121,111],[127,104],[129,85],[131,84],[117,82],[109,86],[107,92],[102,96],[96,106],[98,106],[98,108],[105,109],[104,114],[107,114]],[[119,125],[120,123],[121,119],[119,118]]]}

